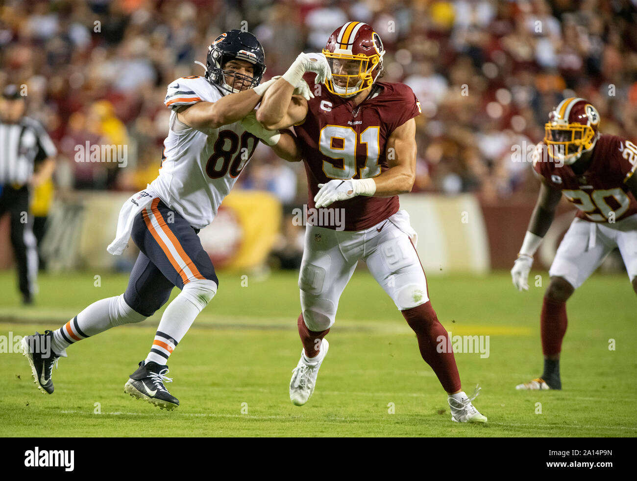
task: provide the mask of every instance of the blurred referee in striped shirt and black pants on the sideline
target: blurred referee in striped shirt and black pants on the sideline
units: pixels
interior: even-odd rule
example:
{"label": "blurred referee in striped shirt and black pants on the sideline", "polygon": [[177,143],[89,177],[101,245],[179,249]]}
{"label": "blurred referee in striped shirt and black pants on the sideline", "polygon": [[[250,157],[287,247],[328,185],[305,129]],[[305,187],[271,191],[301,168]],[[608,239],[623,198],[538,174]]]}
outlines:
{"label": "blurred referee in striped shirt and black pants on the sideline", "polygon": [[25,100],[16,85],[0,98],[0,218],[11,218],[11,246],[18,267],[22,302],[31,304],[37,292],[38,247],[29,210],[31,189],[47,181],[57,150],[43,127],[24,116]]}

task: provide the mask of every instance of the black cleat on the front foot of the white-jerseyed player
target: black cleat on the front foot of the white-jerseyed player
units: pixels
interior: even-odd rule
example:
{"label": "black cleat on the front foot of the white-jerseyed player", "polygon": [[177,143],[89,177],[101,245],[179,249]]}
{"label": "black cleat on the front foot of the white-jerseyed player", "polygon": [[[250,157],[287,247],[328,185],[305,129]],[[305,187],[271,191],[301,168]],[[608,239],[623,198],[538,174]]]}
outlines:
{"label": "black cleat on the front foot of the white-jerseyed player", "polygon": [[178,407],[179,400],[164,387],[164,381],[173,382],[166,377],[167,373],[168,366],[141,361],[138,370],[131,374],[131,379],[124,385],[124,393],[171,411]]}

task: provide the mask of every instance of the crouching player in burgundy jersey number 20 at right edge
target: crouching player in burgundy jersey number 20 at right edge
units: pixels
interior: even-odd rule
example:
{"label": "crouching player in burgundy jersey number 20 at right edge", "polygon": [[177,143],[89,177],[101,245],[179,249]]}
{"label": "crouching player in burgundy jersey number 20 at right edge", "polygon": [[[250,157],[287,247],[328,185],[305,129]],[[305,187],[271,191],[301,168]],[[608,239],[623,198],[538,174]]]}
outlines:
{"label": "crouching player in burgundy jersey number 20 at right edge", "polygon": [[540,195],[511,270],[520,291],[529,288],[533,254],[553,221],[562,193],[578,212],[548,271],[550,284],[540,315],[544,372],[517,389],[562,388],[559,358],[566,333],[566,300],[615,247],[637,293],[637,146],[623,137],[600,134],[599,120],[588,101],[565,99],[550,113],[544,141],[533,153]]}

